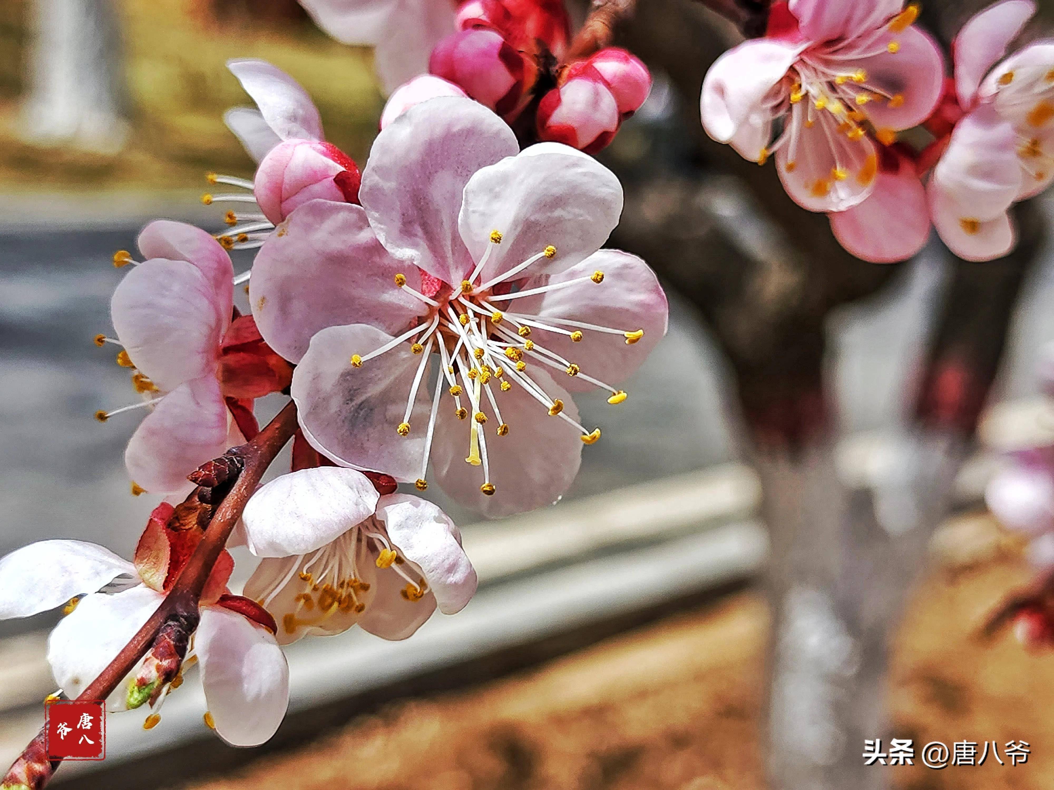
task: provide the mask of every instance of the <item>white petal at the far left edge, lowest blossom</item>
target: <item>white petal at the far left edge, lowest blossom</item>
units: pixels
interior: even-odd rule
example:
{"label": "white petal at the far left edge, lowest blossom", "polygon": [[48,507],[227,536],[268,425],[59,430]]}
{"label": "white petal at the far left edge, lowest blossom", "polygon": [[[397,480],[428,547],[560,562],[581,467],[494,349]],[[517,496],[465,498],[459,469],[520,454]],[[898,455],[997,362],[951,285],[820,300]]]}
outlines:
{"label": "white petal at the far left edge, lowest blossom", "polygon": [[81,540],[40,540],[0,559],[0,619],[28,617],[93,593],[135,566]]}

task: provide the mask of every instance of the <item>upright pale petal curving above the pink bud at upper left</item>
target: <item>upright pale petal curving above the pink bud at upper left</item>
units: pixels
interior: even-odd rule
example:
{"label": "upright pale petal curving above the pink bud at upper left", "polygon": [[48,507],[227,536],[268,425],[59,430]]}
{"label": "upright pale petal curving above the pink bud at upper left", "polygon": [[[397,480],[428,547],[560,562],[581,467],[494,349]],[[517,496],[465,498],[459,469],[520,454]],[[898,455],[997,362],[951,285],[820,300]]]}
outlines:
{"label": "upright pale petal curving above the pink bud at upper left", "polygon": [[300,83],[265,60],[229,60],[227,67],[238,78],[268,125],[282,140],[324,140],[318,108]]}

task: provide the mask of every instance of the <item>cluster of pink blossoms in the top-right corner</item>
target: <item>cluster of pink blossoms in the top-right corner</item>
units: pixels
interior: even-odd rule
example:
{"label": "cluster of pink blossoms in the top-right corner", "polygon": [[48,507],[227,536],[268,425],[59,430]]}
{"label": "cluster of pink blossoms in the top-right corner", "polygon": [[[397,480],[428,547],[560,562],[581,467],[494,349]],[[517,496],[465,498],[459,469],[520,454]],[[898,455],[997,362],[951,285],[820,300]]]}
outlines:
{"label": "cluster of pink blossoms in the top-right corner", "polygon": [[950,79],[914,4],[775,3],[767,34],[707,73],[703,125],[747,159],[775,157],[787,194],[860,258],[909,258],[931,224],[961,258],[998,258],[1016,240],[1010,206],[1054,179],[1054,43],[1003,59],[1034,13],[1002,0],[971,19]]}

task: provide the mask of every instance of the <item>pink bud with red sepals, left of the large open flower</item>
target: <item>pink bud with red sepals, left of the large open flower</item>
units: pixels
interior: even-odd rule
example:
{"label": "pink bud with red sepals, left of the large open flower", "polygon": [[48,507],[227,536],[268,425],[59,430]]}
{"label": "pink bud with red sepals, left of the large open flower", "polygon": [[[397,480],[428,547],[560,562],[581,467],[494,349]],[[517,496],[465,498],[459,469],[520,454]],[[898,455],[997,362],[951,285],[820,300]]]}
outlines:
{"label": "pink bud with red sepals, left of the large open flower", "polygon": [[278,224],[315,198],[357,203],[359,180],[355,162],[333,143],[293,139],[264,157],[253,191],[264,216]]}

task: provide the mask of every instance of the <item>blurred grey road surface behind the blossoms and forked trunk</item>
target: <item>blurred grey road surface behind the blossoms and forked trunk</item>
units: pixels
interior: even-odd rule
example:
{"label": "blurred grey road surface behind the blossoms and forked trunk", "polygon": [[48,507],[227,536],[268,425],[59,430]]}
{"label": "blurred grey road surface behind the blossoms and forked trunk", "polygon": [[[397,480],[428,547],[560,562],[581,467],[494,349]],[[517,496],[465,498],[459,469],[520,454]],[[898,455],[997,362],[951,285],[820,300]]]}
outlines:
{"label": "blurred grey road surface behind the blossoms and forked trunk", "polygon": [[[45,215],[46,216],[46,215]],[[133,402],[111,333],[109,300],[121,272],[114,251],[134,250],[138,221],[58,228],[33,221],[0,230],[0,554],[45,537],[77,537],[131,551],[152,506],[129,492],[121,454],[138,413],[106,424],[96,409]],[[1029,283],[1000,392],[1034,391],[1037,347],[1054,338],[1054,261]],[[246,261],[236,264],[243,268]],[[879,298],[832,318],[835,381],[846,430],[891,424],[901,408],[935,288],[930,251]],[[739,455],[723,396],[722,362],[690,309],[671,298],[670,331],[626,387],[614,412],[600,396],[579,399],[604,438],[585,449],[569,496],[690,471]],[[1026,339],[1022,339],[1026,338]],[[431,492],[429,492],[431,493]],[[471,514],[451,507],[462,524]]]}

